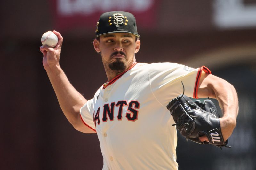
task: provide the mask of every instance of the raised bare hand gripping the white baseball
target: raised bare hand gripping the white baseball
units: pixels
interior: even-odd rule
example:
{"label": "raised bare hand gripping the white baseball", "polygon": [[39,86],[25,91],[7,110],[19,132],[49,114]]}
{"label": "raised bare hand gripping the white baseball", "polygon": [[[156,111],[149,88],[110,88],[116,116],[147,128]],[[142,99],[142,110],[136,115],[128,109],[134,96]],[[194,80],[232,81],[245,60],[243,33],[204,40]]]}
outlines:
{"label": "raised bare hand gripping the white baseball", "polygon": [[43,53],[43,65],[44,69],[51,69],[55,66],[60,65],[60,52],[61,52],[61,45],[63,42],[63,37],[60,35],[59,32],[53,31],[55,35],[57,35],[59,41],[54,48],[50,48],[49,46],[41,46],[40,51]]}

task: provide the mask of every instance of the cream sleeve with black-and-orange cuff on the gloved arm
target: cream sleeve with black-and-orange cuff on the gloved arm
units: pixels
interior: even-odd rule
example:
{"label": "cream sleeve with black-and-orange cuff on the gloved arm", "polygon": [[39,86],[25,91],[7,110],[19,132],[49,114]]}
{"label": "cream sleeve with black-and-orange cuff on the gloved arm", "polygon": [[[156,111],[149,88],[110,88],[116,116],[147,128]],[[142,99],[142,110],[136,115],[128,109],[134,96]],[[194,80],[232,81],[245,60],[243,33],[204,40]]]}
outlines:
{"label": "cream sleeve with black-and-orange cuff on the gloved arm", "polygon": [[195,69],[177,63],[154,63],[149,73],[152,93],[165,105],[183,93],[183,83],[184,94],[197,98],[199,80],[204,74],[202,71],[211,74],[205,66]]}

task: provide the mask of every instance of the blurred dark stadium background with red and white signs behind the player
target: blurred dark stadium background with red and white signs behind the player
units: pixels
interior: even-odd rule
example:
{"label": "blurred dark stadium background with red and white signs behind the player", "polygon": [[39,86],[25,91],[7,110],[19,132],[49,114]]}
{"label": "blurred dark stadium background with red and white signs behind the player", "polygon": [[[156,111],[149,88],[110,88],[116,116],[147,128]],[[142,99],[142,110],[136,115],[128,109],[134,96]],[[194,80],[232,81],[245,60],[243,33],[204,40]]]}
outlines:
{"label": "blurred dark stadium background with red and white signs behind the player", "polygon": [[[256,0],[8,0],[0,2],[0,169],[102,169],[96,134],[63,115],[42,65],[41,36],[64,37],[60,64],[87,99],[107,81],[92,41],[106,11],[129,11],[141,35],[137,62],[205,65],[233,84],[237,126],[223,148],[179,136],[179,169],[255,170]],[[223,87],[225,88],[225,87]]]}

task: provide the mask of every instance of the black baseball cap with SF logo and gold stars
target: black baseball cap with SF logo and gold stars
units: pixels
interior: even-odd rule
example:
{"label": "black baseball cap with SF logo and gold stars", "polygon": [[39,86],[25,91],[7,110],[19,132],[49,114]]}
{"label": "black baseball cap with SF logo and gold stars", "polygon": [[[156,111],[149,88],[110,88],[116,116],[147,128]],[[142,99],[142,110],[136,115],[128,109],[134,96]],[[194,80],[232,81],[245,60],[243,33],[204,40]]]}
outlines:
{"label": "black baseball cap with SF logo and gold stars", "polygon": [[131,33],[140,37],[135,17],[124,11],[105,12],[100,16],[95,30],[96,37],[109,33]]}

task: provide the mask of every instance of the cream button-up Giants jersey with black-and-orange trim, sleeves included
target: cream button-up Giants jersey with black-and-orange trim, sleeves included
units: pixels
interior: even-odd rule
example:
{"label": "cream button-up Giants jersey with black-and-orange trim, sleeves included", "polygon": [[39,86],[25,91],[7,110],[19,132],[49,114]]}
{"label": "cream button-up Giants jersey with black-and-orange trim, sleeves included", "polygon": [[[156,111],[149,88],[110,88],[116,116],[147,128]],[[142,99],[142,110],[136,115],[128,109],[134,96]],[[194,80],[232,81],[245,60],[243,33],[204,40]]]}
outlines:
{"label": "cream button-up Giants jersey with black-and-orange trim, sleeves included", "polygon": [[177,63],[134,63],[105,83],[81,108],[97,132],[103,169],[178,169],[177,133],[168,102],[183,93],[197,98],[202,70]]}

